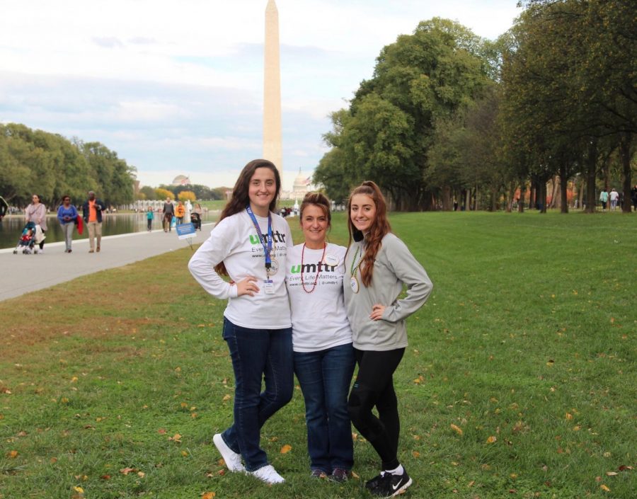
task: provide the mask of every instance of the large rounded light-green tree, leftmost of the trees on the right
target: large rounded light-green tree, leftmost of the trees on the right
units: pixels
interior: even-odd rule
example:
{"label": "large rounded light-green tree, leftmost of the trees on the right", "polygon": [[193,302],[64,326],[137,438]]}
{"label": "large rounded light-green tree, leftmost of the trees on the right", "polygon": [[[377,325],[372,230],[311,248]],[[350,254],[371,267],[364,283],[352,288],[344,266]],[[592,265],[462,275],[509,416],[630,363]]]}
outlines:
{"label": "large rounded light-green tree, leftmost of the trees on the right", "polygon": [[362,178],[376,180],[398,209],[432,207],[425,183],[437,120],[471,103],[488,81],[483,40],[464,26],[440,18],[423,21],[377,58],[372,79],[363,81],[348,110],[332,117],[326,134],[332,150],[315,180],[339,179],[342,196]]}

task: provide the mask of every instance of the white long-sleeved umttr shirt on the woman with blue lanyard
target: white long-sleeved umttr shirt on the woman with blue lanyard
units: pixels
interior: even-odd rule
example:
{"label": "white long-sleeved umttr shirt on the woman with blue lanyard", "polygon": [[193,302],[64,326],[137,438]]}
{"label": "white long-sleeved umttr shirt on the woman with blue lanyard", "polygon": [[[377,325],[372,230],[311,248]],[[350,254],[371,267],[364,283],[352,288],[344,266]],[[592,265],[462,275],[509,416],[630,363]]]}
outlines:
{"label": "white long-sleeved umttr shirt on the woman with blue lanyard", "polygon": [[[272,213],[272,270],[270,279],[273,294],[265,293],[265,251],[252,219],[246,212],[224,218],[214,226],[210,237],[190,258],[188,269],[197,282],[215,298],[228,299],[224,316],[243,328],[283,329],[291,325],[289,301],[285,288],[285,268],[288,247],[292,247],[289,225]],[[256,217],[261,234],[267,237],[268,218]],[[257,278],[259,292],[251,297],[237,297],[236,285],[219,277],[214,266],[224,262],[231,280],[239,282],[248,275]],[[275,271],[276,270],[276,271]]]}

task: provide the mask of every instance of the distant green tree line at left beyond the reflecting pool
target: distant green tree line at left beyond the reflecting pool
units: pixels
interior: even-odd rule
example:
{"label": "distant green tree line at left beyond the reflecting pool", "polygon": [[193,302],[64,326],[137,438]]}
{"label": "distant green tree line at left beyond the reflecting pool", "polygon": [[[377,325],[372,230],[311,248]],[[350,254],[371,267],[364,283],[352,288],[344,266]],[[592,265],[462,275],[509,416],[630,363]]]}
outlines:
{"label": "distant green tree line at left beyond the reflecting pool", "polygon": [[89,190],[122,205],[134,198],[134,180],[135,168],[100,142],[0,124],[0,194],[11,205],[25,207],[34,193],[48,207],[64,195],[79,203]]}

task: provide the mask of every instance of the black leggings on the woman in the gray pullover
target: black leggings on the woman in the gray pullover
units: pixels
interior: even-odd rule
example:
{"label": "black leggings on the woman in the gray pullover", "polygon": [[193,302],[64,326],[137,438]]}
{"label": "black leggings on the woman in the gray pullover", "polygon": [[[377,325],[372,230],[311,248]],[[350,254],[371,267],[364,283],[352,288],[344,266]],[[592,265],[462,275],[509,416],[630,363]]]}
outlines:
{"label": "black leggings on the woman in the gray pullover", "polygon": [[[350,391],[348,413],[352,424],[369,440],[382,461],[382,469],[394,469],[398,462],[398,400],[394,391],[394,371],[400,364],[404,348],[379,352],[354,350],[358,374]],[[376,406],[379,417],[372,409]]]}

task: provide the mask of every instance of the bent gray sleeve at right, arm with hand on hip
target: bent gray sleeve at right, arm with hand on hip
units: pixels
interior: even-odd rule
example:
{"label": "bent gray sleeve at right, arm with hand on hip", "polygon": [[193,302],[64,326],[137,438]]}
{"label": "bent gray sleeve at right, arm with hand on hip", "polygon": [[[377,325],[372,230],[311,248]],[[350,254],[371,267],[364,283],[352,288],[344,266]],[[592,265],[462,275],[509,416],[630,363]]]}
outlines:
{"label": "bent gray sleeve at right, arm with hand on hip", "polygon": [[388,255],[391,255],[391,258],[388,258],[389,265],[391,270],[394,270],[394,275],[398,280],[407,286],[407,296],[394,304],[385,306],[381,319],[388,322],[398,322],[406,319],[425,304],[431,294],[433,284],[423,265],[420,265],[418,260],[414,258],[403,241],[394,238],[387,242],[389,242],[389,247],[386,248],[386,251]]}

